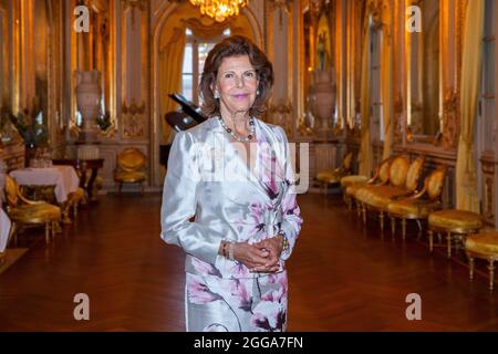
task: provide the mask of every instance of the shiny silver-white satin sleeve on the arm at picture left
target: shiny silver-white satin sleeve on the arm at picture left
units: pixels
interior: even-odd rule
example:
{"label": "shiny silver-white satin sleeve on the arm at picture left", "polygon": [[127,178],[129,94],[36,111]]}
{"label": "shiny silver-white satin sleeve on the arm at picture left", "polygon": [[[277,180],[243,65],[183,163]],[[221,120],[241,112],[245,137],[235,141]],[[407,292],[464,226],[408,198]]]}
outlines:
{"label": "shiny silver-white satin sleeve on the arm at picture left", "polygon": [[190,221],[197,208],[200,184],[199,150],[188,132],[179,132],[173,142],[163,190],[160,238],[211,264],[218,257],[222,233]]}

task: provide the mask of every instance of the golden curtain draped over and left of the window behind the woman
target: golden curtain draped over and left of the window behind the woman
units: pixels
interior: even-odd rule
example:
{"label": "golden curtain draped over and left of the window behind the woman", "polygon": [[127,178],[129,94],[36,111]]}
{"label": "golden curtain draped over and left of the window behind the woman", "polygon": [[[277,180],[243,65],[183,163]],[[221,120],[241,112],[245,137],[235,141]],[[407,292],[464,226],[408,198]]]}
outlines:
{"label": "golden curtain draped over and left of the window behind the woman", "polygon": [[153,183],[160,186],[165,168],[159,165],[159,145],[172,140],[172,128],[164,119],[167,112],[177,105],[167,95],[179,92],[181,87],[183,58],[187,43],[187,29],[196,38],[209,40],[219,38],[224,31],[231,34],[243,34],[261,45],[260,27],[250,9],[243,9],[237,18],[217,23],[212,19],[201,17],[197,8],[189,2],[172,3],[158,15],[153,39],[153,134],[152,168]]}

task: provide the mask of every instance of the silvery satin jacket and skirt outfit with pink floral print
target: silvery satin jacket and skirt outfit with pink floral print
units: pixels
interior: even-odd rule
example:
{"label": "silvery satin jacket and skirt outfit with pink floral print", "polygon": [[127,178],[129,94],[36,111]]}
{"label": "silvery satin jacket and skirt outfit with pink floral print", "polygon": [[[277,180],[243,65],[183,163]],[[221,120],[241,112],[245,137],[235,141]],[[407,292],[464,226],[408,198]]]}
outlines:
{"label": "silvery satin jacket and skirt outfit with pink floral print", "polygon": [[[168,158],[162,238],[186,252],[187,331],[284,331],[288,279],[302,218],[282,128],[256,121],[256,168],[217,118],[179,132]],[[195,218],[191,220],[191,218]],[[222,240],[256,243],[283,230],[290,247],[274,273],[251,273],[218,254]]]}

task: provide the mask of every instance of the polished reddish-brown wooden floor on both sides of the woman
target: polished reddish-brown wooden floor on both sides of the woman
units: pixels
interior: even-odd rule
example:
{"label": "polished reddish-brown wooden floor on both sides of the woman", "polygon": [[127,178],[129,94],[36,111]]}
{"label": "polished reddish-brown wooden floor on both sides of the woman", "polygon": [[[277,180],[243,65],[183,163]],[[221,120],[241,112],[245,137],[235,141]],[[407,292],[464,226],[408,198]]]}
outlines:
{"label": "polished reddish-brown wooden floor on both sides of the woman", "polygon": [[[498,289],[485,272],[470,283],[463,254],[430,256],[415,230],[405,242],[382,237],[338,196],[299,202],[290,331],[498,330]],[[159,194],[101,196],[51,244],[31,241],[0,274],[0,331],[184,331],[184,256],[159,239]],[[90,321],[73,317],[76,293],[90,296]],[[422,296],[422,321],[406,320],[409,293]]]}

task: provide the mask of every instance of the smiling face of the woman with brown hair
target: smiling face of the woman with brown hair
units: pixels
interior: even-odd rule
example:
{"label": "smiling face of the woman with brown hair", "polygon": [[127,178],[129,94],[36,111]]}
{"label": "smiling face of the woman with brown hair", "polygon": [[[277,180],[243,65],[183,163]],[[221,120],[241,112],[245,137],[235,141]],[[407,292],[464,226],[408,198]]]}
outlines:
{"label": "smiling face of the woman with brown hair", "polygon": [[224,58],[215,86],[221,115],[248,112],[255,103],[257,88],[257,73],[248,55]]}

